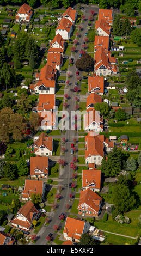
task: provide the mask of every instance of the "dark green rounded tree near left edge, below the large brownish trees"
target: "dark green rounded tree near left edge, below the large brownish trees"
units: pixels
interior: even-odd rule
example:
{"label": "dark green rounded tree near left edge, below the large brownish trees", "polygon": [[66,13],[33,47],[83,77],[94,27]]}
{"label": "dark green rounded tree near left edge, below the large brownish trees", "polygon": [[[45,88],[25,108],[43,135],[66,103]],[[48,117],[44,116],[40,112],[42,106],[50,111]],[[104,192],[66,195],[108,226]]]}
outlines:
{"label": "dark green rounded tree near left edge, below the large brownish trees", "polygon": [[4,164],[4,177],[9,180],[14,180],[16,178],[16,167],[15,164],[12,164],[10,162],[6,162]]}

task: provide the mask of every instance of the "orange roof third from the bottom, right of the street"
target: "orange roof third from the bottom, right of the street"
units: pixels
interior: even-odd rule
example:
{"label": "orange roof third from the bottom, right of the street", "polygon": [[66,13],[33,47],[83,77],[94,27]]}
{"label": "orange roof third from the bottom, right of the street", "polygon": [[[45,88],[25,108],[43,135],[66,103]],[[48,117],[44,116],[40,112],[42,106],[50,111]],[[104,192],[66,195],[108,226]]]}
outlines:
{"label": "orange roof third from the bottom, right of the street", "polygon": [[[91,184],[95,186],[90,186]],[[90,170],[82,170],[82,187],[93,187],[100,190],[101,185],[101,170],[96,168]]]}

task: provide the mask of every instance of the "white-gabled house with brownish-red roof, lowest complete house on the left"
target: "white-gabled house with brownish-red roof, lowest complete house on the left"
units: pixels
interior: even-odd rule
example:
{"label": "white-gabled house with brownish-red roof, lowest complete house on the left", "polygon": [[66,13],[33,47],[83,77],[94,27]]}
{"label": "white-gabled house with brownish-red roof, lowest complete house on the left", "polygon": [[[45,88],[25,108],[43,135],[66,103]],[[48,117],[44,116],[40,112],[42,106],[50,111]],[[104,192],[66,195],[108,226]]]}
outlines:
{"label": "white-gabled house with brownish-red roof, lowest complete house on the left", "polygon": [[21,228],[29,231],[33,228],[32,222],[38,220],[40,212],[35,208],[31,201],[27,201],[18,211],[17,215],[11,221],[11,225],[14,228]]}

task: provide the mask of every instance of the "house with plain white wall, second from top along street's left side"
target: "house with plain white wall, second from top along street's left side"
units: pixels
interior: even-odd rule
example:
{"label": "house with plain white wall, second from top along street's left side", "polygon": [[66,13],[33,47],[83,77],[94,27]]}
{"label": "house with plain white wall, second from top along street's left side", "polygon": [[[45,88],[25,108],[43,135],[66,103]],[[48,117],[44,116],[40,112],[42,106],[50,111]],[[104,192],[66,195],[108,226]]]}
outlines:
{"label": "house with plain white wall, second from top along street's left side", "polygon": [[71,37],[72,31],[73,31],[73,25],[69,19],[62,18],[58,22],[58,26],[56,28],[56,35],[60,34],[63,39],[68,40]]}

